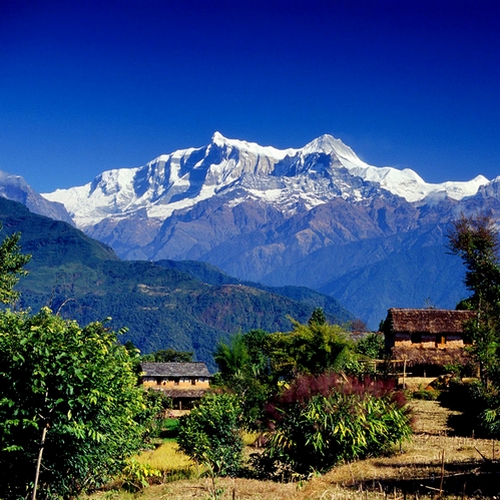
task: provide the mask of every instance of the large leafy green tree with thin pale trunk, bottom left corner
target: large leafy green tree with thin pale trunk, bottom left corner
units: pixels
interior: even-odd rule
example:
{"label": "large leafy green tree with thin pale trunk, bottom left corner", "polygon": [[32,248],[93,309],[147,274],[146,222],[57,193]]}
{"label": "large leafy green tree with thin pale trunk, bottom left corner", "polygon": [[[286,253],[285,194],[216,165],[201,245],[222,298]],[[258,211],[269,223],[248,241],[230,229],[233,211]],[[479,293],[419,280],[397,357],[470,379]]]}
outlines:
{"label": "large leafy green tree with thin pale trunk, bottom left corner", "polygon": [[145,430],[136,382],[129,353],[102,323],[80,328],[47,308],[1,313],[1,497],[38,486],[43,498],[71,498],[121,471]]}

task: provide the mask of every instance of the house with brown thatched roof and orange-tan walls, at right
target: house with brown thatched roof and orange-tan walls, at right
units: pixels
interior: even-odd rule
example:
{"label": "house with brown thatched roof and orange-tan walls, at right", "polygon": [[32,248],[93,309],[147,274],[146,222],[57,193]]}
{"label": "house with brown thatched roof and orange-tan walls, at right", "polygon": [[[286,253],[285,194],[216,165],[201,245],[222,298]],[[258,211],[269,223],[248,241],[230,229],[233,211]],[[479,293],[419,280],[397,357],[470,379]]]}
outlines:
{"label": "house with brown thatched roof and orange-tan walls, at right", "polygon": [[404,360],[414,373],[439,374],[445,365],[466,364],[464,325],[475,315],[448,309],[389,309],[383,327],[386,353]]}

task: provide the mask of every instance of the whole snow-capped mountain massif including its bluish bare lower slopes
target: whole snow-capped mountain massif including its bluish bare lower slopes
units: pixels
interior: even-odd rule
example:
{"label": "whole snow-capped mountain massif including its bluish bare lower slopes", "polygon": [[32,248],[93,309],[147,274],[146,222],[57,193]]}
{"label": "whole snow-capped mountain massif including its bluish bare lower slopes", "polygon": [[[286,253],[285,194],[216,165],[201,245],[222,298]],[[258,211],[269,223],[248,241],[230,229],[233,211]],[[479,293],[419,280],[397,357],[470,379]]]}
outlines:
{"label": "whole snow-capped mountain massif including its bluish bare lower slopes", "polygon": [[376,328],[389,307],[454,307],[450,221],[499,212],[500,178],[430,184],[323,135],[300,149],[227,139],[103,172],[43,197],[128,260],[196,260],[240,280],[306,286]]}

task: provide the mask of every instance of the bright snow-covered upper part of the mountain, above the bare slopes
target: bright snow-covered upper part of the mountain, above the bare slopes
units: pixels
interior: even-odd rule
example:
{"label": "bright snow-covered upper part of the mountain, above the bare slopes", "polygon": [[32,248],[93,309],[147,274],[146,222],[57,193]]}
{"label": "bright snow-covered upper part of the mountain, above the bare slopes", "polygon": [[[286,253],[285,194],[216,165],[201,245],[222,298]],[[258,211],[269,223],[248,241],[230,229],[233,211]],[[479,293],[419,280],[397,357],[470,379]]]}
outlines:
{"label": "bright snow-covered upper part of the mountain, above the bare slopes", "polygon": [[207,146],[161,155],[142,167],[108,170],[84,186],[43,196],[62,203],[85,230],[138,211],[165,220],[176,210],[231,192],[233,205],[262,200],[291,215],[298,206],[311,209],[338,197],[361,201],[383,196],[384,190],[409,202],[436,193],[460,200],[488,182],[478,176],[429,184],[409,169],[369,165],[330,135],[301,149],[279,150],[216,132]]}

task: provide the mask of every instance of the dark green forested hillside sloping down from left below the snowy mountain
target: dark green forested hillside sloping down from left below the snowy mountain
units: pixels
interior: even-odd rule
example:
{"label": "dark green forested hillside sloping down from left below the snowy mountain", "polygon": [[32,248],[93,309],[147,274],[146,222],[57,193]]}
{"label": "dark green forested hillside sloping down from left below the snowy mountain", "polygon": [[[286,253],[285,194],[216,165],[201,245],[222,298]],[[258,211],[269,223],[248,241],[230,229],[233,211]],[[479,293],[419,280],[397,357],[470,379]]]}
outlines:
{"label": "dark green forested hillside sloping down from left below the snowy mountain", "polygon": [[48,305],[80,324],[110,317],[114,330],[144,353],[164,348],[192,351],[214,368],[217,341],[235,332],[286,330],[289,317],[306,321],[315,307],[329,320],[352,315],[325,295],[304,288],[272,289],[239,282],[203,263],[121,261],[108,246],[70,225],[0,198],[4,234],[21,232],[33,258],[22,280],[20,306]]}

